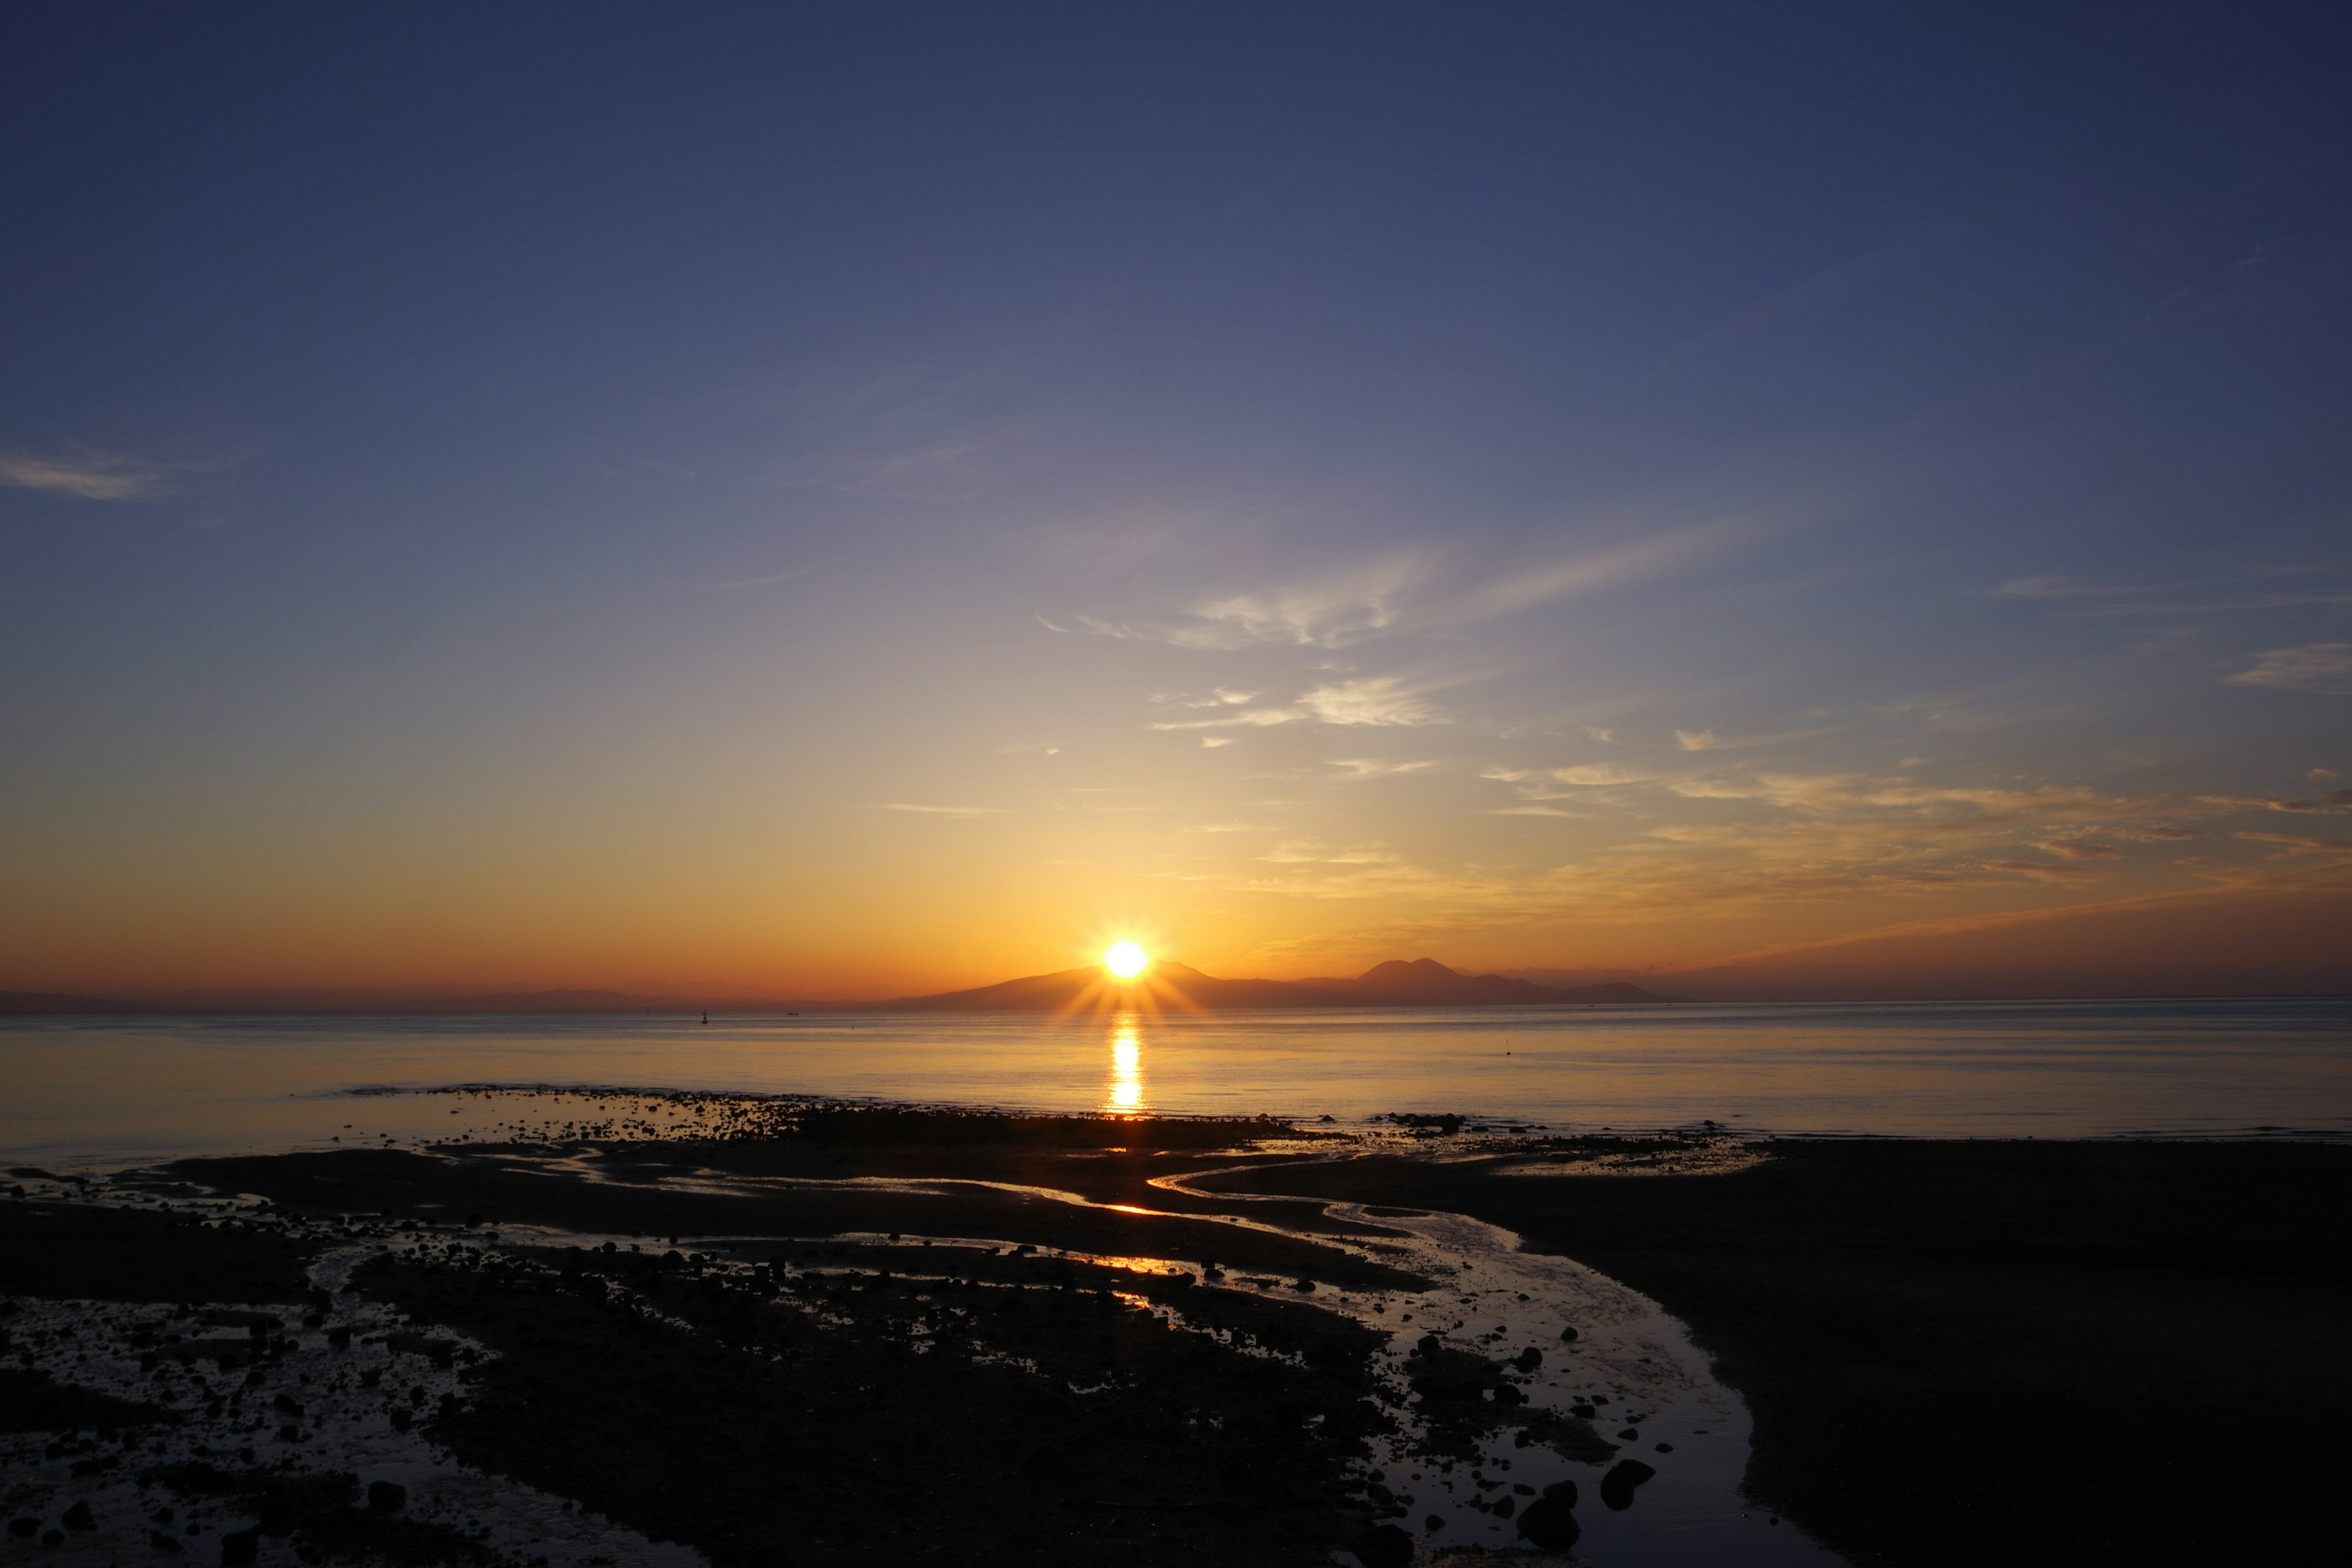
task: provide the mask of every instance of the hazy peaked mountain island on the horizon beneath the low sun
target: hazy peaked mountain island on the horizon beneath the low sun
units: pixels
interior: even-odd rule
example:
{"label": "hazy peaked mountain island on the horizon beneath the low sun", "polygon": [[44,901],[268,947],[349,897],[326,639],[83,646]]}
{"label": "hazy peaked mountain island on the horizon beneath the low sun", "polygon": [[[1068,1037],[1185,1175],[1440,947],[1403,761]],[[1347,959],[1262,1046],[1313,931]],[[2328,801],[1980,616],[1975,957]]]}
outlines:
{"label": "hazy peaked mountain island on the horizon beneath the low sun", "polygon": [[[1505,976],[1465,976],[1437,959],[1388,959],[1355,978],[1221,980],[1190,964],[1160,959],[1136,985],[1162,1004],[1207,1013],[1301,1006],[1573,1006],[1599,1001],[1665,1001],[1639,985],[1536,985]],[[868,1001],[873,1013],[1051,1013],[1115,994],[1094,964],[1049,976],[1023,976],[960,992]]]}

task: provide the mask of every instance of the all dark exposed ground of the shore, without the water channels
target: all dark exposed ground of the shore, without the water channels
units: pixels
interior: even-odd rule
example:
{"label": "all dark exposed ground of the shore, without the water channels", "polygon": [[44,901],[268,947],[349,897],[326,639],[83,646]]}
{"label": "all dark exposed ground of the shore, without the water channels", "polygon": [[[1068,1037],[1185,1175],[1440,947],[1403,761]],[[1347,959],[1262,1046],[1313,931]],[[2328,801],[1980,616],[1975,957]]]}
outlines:
{"label": "all dark exposed ground of the shore, without the water channels", "polygon": [[[421,1432],[722,1566],[877,1549],[1374,1561],[1423,1530],[1350,1469],[1388,1420],[1376,1340],[1315,1302],[1435,1281],[1378,1262],[1397,1232],[1322,1211],[1350,1199],[1479,1215],[1661,1300],[1755,1413],[1757,1507],[1856,1563],[2284,1561],[2328,1526],[2352,1392],[2343,1147],[1545,1138],[1458,1117],[1397,1117],[1367,1140],[1263,1119],[724,1095],[703,1117],[687,1138],[574,1121],[510,1145],[193,1159],[106,1185],[115,1204],[212,1204],[202,1229],[64,1199],[66,1182],[28,1171],[16,1180],[59,1201],[0,1204],[0,1291],[158,1302],[169,1321],[191,1302],[278,1300],[289,1319],[318,1314],[310,1338],[355,1302],[449,1326],[496,1359],[452,1371],[459,1392],[419,1410]],[[581,1157],[597,1180],[579,1178]],[[567,1251],[560,1232],[637,1241]],[[369,1237],[388,1251],[353,1291],[320,1300],[303,1284],[306,1258]],[[1277,1394],[1261,1363],[1169,1338],[1155,1302],[1303,1356],[1303,1382]],[[931,1328],[908,1340],[913,1321]],[[1033,1345],[1080,1385],[1112,1366],[1134,1378],[1115,1408],[1035,1403],[988,1356],[924,1361],[953,1342],[946,1324],[971,1345]],[[800,1371],[760,1371],[774,1356]],[[71,1389],[26,1392],[52,1420],[73,1410]],[[1496,1399],[1472,1385],[1446,1420],[1512,1420]],[[1004,1401],[1030,1410],[1018,1434],[997,1425]],[[2246,1406],[2258,1446],[2185,1441]],[[1171,1427],[1185,1408],[1223,1415]],[[141,1429],[118,1406],[78,1425],[101,1415]],[[1595,1465],[1613,1448],[1590,1427],[1531,1434]],[[922,1483],[863,1469],[868,1453],[917,1465]],[[275,1486],[268,1460],[216,1465],[223,1523]],[[292,1528],[329,1540],[355,1528],[353,1507]]]}

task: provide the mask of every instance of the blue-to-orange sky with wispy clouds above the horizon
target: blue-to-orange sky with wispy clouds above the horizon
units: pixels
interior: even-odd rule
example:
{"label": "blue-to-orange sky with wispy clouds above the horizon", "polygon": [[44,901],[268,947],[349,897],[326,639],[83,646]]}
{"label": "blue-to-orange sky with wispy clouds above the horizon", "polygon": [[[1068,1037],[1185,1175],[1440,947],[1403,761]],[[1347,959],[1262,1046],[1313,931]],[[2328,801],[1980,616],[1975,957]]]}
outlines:
{"label": "blue-to-orange sky with wispy clouds above the horizon", "polygon": [[14,7],[0,987],[2352,987],[2347,33]]}

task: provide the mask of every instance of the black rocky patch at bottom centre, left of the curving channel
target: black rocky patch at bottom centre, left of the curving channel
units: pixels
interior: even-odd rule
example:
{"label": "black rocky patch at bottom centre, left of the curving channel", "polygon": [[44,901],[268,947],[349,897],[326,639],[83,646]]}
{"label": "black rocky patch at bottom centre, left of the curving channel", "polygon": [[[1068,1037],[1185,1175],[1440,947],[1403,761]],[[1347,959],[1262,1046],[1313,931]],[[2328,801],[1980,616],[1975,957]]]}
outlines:
{"label": "black rocky patch at bottom centre, left of the curving channel", "polygon": [[722,1568],[1319,1563],[1364,1530],[1369,1331],[1223,1291],[1171,1326],[1042,1258],[1028,1284],[816,1262],[541,1251],[358,1286],[496,1352],[428,1425],[456,1458]]}

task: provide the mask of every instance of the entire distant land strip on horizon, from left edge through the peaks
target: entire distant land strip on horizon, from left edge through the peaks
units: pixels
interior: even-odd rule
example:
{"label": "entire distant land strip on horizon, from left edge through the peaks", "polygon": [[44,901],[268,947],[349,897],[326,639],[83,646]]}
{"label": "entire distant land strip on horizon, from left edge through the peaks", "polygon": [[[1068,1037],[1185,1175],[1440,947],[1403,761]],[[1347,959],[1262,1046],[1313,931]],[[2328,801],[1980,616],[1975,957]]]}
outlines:
{"label": "entire distant land strip on horizon, from left edge through the peaks", "polygon": [[[299,1013],[1058,1013],[1115,997],[1122,985],[1103,969],[1087,964],[1049,976],[1023,976],[974,990],[929,997],[891,997],[887,1001],[804,1001],[804,999],[708,999],[647,997],[609,990],[539,990],[485,992],[473,997],[405,997],[355,1006],[160,1006],[155,1001],[113,1001],[56,992],[0,992],[0,1013],[214,1013],[214,1011],[299,1011]],[[1668,1001],[1639,985],[1536,985],[1510,976],[1465,976],[1437,959],[1388,959],[1355,978],[1308,980],[1221,980],[1190,964],[1157,959],[1134,985],[1138,997],[1207,1013],[1254,1009],[1352,1009],[1352,1006],[1592,1006],[1604,1001]]]}

